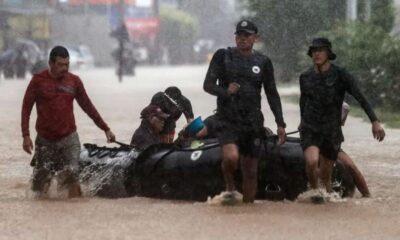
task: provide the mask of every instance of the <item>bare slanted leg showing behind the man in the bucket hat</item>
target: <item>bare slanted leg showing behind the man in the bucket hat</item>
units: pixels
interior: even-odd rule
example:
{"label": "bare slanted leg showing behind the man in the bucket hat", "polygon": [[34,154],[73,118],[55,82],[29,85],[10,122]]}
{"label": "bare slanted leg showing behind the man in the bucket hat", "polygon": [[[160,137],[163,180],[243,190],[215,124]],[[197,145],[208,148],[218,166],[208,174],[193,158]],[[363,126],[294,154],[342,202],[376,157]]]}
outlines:
{"label": "bare slanted leg showing behind the man in the bucket hat", "polygon": [[364,179],[364,176],[358,170],[356,164],[353,162],[353,160],[350,158],[347,153],[340,151],[338,158],[343,162],[345,167],[350,171],[351,176],[354,179],[354,182],[356,184],[356,187],[358,191],[360,191],[361,195],[363,197],[371,197],[371,193],[369,192],[367,182]]}

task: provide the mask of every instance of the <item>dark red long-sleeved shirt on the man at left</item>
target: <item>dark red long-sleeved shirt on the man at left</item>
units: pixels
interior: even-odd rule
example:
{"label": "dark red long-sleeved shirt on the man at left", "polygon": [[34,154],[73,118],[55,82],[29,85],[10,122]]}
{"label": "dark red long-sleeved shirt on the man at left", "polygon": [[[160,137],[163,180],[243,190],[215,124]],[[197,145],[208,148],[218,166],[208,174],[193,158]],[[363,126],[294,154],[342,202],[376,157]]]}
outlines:
{"label": "dark red long-sleeved shirt on the man at left", "polygon": [[99,128],[109,130],[78,76],[67,73],[63,79],[57,80],[44,70],[33,76],[25,92],[21,114],[22,136],[29,136],[29,118],[35,103],[36,131],[41,137],[58,140],[75,132],[74,99]]}

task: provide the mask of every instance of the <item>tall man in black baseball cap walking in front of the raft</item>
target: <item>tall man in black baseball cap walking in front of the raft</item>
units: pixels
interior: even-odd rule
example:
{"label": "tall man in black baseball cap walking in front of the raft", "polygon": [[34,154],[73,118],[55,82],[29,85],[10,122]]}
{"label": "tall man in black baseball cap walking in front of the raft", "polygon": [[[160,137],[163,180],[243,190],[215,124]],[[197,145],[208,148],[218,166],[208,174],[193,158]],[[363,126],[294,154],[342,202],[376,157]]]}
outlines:
{"label": "tall man in black baseball cap walking in front of the raft", "polygon": [[[279,143],[285,141],[286,124],[275,85],[274,70],[268,57],[253,50],[258,29],[250,21],[236,26],[236,47],[219,49],[214,54],[204,90],[217,96],[217,117],[222,124],[219,140],[222,144],[222,172],[226,204],[235,203],[234,172],[241,158],[243,202],[253,202],[257,189],[257,150],[264,131],[261,112],[261,89],[278,125]],[[224,203],[223,202],[223,203]]]}

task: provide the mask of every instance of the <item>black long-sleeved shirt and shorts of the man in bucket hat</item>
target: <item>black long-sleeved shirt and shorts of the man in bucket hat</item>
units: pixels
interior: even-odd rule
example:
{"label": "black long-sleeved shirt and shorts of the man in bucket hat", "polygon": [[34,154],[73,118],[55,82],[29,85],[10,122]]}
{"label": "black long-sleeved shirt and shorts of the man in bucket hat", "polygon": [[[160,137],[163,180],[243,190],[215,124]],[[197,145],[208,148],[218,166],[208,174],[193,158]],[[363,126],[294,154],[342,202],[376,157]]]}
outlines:
{"label": "black long-sleeved shirt and shorts of the man in bucket hat", "polygon": [[314,68],[302,73],[300,91],[302,147],[318,146],[328,159],[336,160],[344,141],[341,114],[346,92],[360,103],[371,122],[377,120],[353,76],[334,64],[322,74],[316,73]]}

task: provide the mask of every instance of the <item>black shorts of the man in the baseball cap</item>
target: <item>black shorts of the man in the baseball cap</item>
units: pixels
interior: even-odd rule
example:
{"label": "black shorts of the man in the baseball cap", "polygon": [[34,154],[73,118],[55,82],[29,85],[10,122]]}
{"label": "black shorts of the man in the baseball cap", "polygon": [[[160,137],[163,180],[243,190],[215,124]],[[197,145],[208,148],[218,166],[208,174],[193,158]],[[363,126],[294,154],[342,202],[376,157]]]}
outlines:
{"label": "black shorts of the man in the baseball cap", "polygon": [[262,143],[264,129],[224,124],[218,139],[221,145],[236,144],[241,155],[257,157]]}

